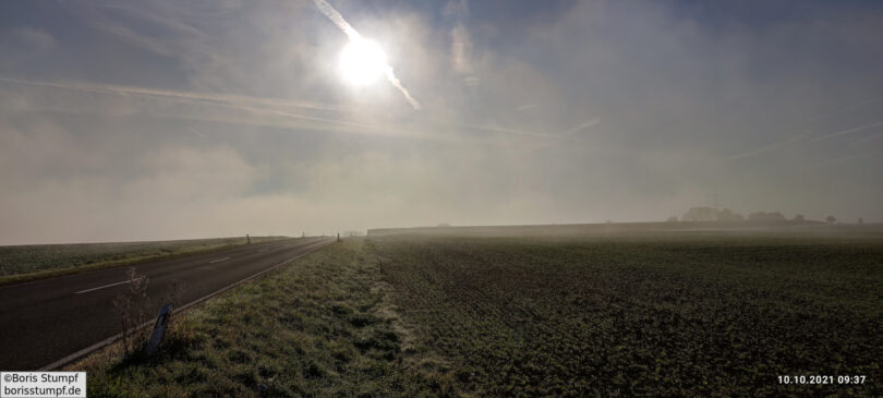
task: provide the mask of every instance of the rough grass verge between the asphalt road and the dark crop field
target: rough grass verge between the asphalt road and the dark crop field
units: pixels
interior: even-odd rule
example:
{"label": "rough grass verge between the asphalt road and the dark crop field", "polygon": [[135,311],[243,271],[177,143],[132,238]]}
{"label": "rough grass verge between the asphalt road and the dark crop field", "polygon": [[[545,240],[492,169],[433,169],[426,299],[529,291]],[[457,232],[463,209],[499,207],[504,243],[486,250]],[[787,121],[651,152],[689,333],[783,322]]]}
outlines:
{"label": "rough grass verge between the asphalt road and the dark crop field", "polygon": [[64,370],[89,397],[453,395],[448,373],[410,371],[378,279],[348,239],[176,314],[154,358],[118,342]]}

